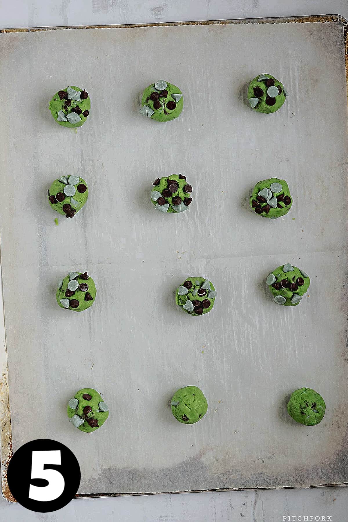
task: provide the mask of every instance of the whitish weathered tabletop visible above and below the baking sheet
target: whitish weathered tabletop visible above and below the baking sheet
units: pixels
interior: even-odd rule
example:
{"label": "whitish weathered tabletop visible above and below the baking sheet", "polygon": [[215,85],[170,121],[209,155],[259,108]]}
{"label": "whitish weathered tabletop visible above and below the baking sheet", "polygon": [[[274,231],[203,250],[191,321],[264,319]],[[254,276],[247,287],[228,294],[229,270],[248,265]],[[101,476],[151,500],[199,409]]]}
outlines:
{"label": "whitish weathered tabletop visible above and below the baking sheet", "polygon": [[[11,0],[0,3],[1,27],[149,23],[336,13],[348,18],[347,0]],[[347,488],[235,491],[74,500],[59,512],[38,514],[0,497],[7,522],[278,522],[320,517],[347,520]],[[296,517],[296,518],[293,518]],[[326,517],[326,518],[322,518]],[[331,517],[331,518],[328,518]],[[318,518],[317,518],[318,520]]]}

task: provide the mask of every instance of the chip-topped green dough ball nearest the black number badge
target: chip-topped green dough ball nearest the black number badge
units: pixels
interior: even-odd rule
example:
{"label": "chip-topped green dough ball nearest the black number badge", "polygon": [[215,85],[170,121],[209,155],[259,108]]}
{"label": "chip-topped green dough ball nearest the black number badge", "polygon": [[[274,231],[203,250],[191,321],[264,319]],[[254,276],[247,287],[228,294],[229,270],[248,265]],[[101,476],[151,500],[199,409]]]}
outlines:
{"label": "chip-topped green dough ball nearest the black number badge", "polygon": [[68,417],[75,428],[91,433],[109,417],[109,406],[93,388],[82,388],[68,402]]}

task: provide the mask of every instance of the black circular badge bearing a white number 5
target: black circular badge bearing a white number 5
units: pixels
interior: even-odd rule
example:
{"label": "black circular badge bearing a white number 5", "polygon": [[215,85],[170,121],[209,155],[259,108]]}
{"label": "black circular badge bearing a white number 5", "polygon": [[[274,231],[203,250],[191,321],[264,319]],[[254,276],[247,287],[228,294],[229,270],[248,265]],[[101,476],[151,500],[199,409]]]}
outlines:
{"label": "black circular badge bearing a white number 5", "polygon": [[74,453],[49,438],[21,446],[7,468],[8,487],[16,501],[40,513],[66,506],[76,495],[80,480]]}

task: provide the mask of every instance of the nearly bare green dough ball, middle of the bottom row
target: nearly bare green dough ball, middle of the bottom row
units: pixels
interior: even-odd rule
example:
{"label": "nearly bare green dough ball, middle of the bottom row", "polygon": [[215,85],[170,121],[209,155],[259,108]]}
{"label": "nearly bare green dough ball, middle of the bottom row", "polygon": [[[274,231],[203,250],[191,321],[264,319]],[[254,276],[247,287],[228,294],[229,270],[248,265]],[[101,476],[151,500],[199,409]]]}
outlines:
{"label": "nearly bare green dough ball, middle of the bottom row", "polygon": [[186,386],[173,395],[171,407],[177,421],[195,424],[207,413],[208,402],[197,386]]}

